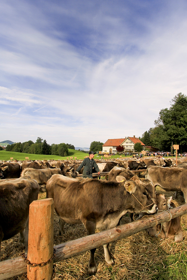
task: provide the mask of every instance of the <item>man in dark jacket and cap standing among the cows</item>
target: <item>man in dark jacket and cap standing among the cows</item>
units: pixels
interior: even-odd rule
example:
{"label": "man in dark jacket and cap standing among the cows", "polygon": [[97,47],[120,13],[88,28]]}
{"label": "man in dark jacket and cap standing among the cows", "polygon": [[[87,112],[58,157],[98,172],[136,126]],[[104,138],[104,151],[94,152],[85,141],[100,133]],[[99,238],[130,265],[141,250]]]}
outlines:
{"label": "man in dark jacket and cap standing among the cows", "polygon": [[89,152],[89,157],[85,158],[83,160],[83,162],[81,163],[81,165],[78,166],[78,168],[76,170],[77,173],[84,166],[84,170],[83,170],[83,173],[82,173],[82,178],[87,178],[88,177],[88,178],[93,179],[93,177],[92,177],[93,168],[95,168],[96,172],[98,172],[98,175],[100,174],[99,167],[98,167],[97,163],[95,162],[95,160],[93,160],[94,155],[95,155],[95,153],[90,151]]}

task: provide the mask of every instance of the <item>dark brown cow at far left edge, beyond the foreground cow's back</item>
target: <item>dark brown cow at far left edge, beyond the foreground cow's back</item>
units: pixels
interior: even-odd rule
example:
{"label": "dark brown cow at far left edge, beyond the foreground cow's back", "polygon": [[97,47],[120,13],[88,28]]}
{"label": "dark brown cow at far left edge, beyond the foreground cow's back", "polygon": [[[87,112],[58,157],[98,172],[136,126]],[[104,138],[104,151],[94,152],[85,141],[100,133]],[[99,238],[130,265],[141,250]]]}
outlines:
{"label": "dark brown cow at far left edge, beyond the foreground cow's back", "polygon": [[6,162],[0,166],[0,178],[11,179],[19,178],[21,173],[21,166],[16,162]]}

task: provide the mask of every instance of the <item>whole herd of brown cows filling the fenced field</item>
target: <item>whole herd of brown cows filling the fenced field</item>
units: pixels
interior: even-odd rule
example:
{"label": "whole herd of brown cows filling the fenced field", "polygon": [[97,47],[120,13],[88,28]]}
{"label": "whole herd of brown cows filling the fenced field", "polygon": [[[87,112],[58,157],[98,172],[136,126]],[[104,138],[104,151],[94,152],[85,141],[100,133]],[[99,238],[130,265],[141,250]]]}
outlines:
{"label": "whole herd of brown cows filling the fenced field", "polygon": [[[25,238],[27,254],[29,204],[38,198],[39,192],[46,191],[46,198],[54,199],[60,220],[59,234],[64,232],[64,223],[83,223],[90,235],[95,229],[101,231],[119,225],[127,212],[132,221],[134,213],[139,213],[140,219],[175,207],[172,197],[155,195],[157,185],[165,191],[182,191],[187,202],[187,159],[178,160],[177,166],[174,159],[163,158],[98,161],[100,172],[109,172],[105,180],[76,178],[75,171],[80,163],[60,160],[0,162],[0,249],[2,240],[20,232],[20,242]],[[144,171],[135,175],[135,170]],[[149,234],[181,241],[180,217],[163,223],[162,227],[149,228]],[[106,262],[113,264],[109,244],[103,247]],[[95,249],[90,251],[88,273],[92,275],[96,272]]]}

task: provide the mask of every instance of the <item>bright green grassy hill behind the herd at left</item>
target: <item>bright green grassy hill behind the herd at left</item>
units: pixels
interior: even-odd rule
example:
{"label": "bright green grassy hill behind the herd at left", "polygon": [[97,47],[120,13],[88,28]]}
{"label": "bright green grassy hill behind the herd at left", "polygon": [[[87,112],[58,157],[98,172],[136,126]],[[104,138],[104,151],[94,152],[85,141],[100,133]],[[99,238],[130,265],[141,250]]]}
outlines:
{"label": "bright green grassy hill behind the herd at left", "polygon": [[77,159],[84,159],[84,156],[88,156],[88,153],[83,153],[81,151],[68,149],[68,156],[54,156],[54,155],[35,155],[31,153],[16,153],[16,152],[6,152],[5,150],[0,151],[0,160],[10,160],[11,157],[15,160],[25,160],[28,157],[29,160],[70,160],[70,156],[77,157]]}

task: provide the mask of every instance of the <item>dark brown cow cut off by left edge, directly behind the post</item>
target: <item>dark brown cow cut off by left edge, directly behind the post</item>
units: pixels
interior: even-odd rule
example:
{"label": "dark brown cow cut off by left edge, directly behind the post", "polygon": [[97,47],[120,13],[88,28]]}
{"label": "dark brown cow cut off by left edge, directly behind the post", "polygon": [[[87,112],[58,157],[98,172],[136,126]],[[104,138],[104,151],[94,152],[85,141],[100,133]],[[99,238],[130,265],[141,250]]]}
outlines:
{"label": "dark brown cow cut off by left edge, directly behind the post", "polygon": [[38,183],[28,176],[0,182],[0,250],[2,240],[9,239],[20,232],[20,242],[23,243],[25,239],[27,255],[29,205],[33,200],[38,199],[38,193]]}

